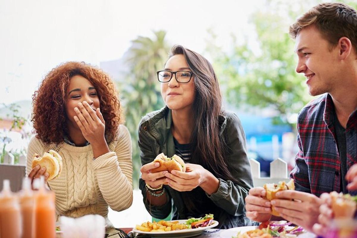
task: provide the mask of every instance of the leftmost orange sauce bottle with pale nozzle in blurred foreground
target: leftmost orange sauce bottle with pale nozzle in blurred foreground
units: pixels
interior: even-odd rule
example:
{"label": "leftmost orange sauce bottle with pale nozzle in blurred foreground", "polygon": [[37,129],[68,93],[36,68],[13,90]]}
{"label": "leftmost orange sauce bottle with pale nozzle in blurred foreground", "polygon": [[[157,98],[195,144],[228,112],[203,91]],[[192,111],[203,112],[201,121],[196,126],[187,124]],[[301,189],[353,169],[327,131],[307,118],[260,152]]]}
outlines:
{"label": "leftmost orange sauce bottle with pale nozzle in blurred foreground", "polygon": [[21,213],[19,201],[10,190],[10,181],[4,180],[0,193],[0,237],[21,237]]}

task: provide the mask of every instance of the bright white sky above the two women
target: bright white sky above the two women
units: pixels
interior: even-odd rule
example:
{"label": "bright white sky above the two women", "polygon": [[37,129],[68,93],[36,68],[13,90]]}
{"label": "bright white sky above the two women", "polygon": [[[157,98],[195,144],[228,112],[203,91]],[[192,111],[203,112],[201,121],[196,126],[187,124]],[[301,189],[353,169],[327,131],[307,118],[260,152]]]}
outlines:
{"label": "bright white sky above the two women", "polygon": [[[202,52],[209,38],[253,34],[253,1],[0,1],[0,103],[31,100],[43,77],[65,61],[119,59],[137,36],[165,30],[170,44]],[[251,37],[254,37],[253,35]]]}

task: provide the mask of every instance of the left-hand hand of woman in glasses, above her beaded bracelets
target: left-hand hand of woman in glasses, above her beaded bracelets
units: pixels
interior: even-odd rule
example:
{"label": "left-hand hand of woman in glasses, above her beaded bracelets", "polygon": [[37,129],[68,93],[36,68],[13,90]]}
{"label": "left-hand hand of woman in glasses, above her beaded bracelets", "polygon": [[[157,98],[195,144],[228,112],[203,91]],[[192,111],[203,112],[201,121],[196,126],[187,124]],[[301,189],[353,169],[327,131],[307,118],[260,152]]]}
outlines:
{"label": "left-hand hand of woman in glasses, above her beaded bracelets", "polygon": [[161,184],[165,183],[165,174],[167,171],[160,171],[156,173],[151,173],[150,170],[160,166],[158,162],[151,162],[144,164],[141,169],[141,179],[145,181],[147,185],[152,188],[159,188]]}

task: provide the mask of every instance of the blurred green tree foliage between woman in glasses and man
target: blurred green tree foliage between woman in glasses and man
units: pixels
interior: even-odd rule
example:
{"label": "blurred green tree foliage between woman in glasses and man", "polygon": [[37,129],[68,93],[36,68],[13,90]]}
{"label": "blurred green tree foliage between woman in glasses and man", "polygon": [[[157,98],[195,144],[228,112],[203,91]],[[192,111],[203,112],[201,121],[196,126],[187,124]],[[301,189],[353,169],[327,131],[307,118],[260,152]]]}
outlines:
{"label": "blurred green tree foliage between woman in glasses and man", "polygon": [[[233,49],[223,52],[215,46],[216,36],[207,51],[221,81],[227,101],[232,105],[271,108],[276,111],[277,123],[288,123],[295,128],[296,113],[313,97],[308,95],[305,77],[295,72],[297,56],[295,42],[288,29],[295,19],[321,1],[267,0],[251,16],[256,31],[257,46],[252,39],[238,43],[233,36]],[[356,7],[355,1],[345,1]],[[244,35],[244,32],[242,33]]]}

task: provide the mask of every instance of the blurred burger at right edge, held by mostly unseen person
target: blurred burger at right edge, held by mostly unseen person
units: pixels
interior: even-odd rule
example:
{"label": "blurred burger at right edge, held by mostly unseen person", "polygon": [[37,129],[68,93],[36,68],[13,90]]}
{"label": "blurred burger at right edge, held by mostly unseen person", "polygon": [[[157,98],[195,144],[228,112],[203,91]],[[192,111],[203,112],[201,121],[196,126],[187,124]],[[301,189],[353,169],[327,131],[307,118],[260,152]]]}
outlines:
{"label": "blurred burger at right edge, held by mostly unseen person", "polygon": [[335,218],[353,218],[357,208],[357,196],[333,191],[330,193],[331,207]]}

